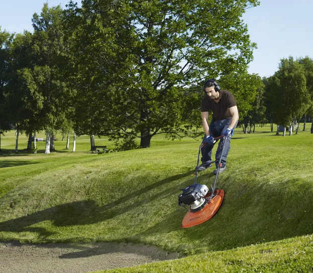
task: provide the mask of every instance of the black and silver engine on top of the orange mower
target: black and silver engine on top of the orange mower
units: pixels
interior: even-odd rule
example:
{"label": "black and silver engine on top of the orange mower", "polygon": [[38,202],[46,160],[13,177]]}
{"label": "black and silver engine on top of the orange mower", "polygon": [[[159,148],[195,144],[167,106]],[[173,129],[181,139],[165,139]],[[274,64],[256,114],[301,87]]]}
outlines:
{"label": "black and silver engine on top of the orange mower", "polygon": [[182,193],[178,195],[178,205],[189,206],[190,212],[197,212],[207,204],[207,200],[203,198],[208,192],[205,185],[195,183],[180,190]]}

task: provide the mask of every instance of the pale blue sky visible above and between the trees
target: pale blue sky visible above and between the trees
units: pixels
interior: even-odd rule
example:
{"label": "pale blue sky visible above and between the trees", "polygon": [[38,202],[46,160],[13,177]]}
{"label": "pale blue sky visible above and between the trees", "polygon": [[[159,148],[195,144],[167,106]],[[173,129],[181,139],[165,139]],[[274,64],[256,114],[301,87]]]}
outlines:
{"label": "pale blue sky visible above and between the trees", "polygon": [[[1,30],[33,32],[32,17],[40,14],[44,0],[0,0]],[[49,7],[69,0],[48,0]],[[75,2],[75,1],[74,1]],[[80,0],[77,0],[80,3]],[[248,34],[257,44],[249,73],[269,77],[278,70],[282,58],[313,58],[313,0],[260,0],[260,5],[243,15]]]}

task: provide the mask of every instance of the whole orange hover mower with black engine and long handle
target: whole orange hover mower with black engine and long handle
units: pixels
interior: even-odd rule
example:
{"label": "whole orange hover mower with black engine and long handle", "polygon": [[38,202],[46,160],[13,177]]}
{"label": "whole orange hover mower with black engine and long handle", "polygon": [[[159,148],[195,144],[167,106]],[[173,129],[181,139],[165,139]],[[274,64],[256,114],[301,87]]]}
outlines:
{"label": "whole orange hover mower with black engine and long handle", "polygon": [[[215,138],[215,141],[223,139],[222,142],[222,155],[225,148],[225,141],[226,138],[221,135],[220,137]],[[210,220],[220,208],[223,198],[224,198],[224,190],[215,190],[216,184],[218,181],[220,168],[222,167],[222,157],[220,160],[212,161],[212,163],[219,162],[217,174],[215,176],[214,185],[211,185],[212,191],[208,192],[208,188],[206,185],[201,185],[196,183],[198,168],[199,168],[199,156],[201,152],[201,148],[206,143],[199,146],[199,153],[198,153],[198,161],[197,166],[195,168],[195,179],[194,184],[180,189],[182,193],[178,195],[178,205],[184,207],[188,212],[185,215],[181,227],[188,228],[192,226],[196,226],[199,224],[204,223],[207,220]]]}

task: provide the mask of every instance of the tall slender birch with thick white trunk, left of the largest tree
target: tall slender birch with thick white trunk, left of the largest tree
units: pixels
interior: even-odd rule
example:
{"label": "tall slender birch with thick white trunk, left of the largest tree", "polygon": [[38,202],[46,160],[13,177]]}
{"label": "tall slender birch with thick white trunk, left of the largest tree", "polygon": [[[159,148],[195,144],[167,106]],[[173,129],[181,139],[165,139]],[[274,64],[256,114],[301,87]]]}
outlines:
{"label": "tall slender birch with thick white trunk, left of the largest tree", "polygon": [[47,133],[45,154],[49,154],[50,140],[53,144],[54,132],[64,123],[71,93],[61,72],[66,61],[63,11],[60,6],[49,8],[46,3],[40,15],[34,14],[32,22],[36,61],[30,72],[32,84],[44,97],[41,116]]}

